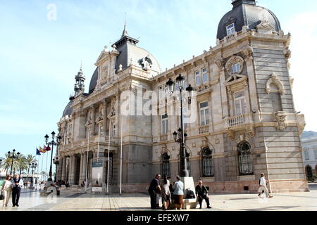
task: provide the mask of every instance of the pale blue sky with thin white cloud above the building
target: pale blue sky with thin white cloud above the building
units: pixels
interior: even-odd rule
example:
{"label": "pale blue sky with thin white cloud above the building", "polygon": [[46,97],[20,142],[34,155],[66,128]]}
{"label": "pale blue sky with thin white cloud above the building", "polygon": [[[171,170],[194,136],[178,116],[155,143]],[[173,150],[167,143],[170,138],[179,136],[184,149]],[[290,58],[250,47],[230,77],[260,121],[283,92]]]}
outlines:
{"label": "pale blue sky with thin white cloud above the building", "polygon": [[[94,63],[105,45],[111,49],[120,38],[125,18],[128,34],[165,70],[216,46],[218,23],[231,10],[230,3],[0,0],[0,156],[13,148],[35,155],[45,134],[57,131],[81,62],[87,91]],[[317,1],[257,4],[273,11],[285,34],[292,34],[295,107],[305,114],[306,130],[317,131]]]}

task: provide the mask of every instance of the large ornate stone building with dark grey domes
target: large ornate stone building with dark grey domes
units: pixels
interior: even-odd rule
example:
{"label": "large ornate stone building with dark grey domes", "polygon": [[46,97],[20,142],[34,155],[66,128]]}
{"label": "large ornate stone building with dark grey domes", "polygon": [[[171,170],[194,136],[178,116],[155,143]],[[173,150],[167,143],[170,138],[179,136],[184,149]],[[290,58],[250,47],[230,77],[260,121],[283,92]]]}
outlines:
{"label": "large ornate stone building with dark grey domes", "polygon": [[152,102],[151,110],[159,115],[122,117],[120,106],[123,91],[131,90],[135,98],[145,91],[160,96],[168,79],[181,74],[197,90],[192,102],[197,120],[185,124],[187,167],[194,181],[202,179],[213,193],[245,193],[256,191],[265,173],[273,192],[307,191],[299,138],[304,115],[295,110],[289,74],[291,36],[255,1],[235,0],[232,5],[220,20],[216,46],[174,68],[161,71],[156,58],[124,30],[113,49],[101,51],[87,93],[80,70],[75,96],[58,122],[63,143],[57,179],[77,185],[87,174],[94,184],[92,166],[99,158],[104,168],[99,184],[108,179],[111,191],[118,191],[121,124],[123,192],[147,191],[158,173],[174,179],[180,151],[173,131],[180,120],[166,114],[166,108],[178,107]]}

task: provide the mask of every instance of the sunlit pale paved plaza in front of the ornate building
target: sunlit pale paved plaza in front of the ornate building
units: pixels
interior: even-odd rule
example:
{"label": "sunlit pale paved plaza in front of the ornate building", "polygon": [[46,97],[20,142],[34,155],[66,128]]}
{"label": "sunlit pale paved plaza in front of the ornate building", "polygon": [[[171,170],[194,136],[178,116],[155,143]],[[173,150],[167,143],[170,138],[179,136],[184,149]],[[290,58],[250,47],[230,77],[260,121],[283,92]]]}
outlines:
{"label": "sunlit pale paved plaza in front of the ornate building", "polygon": [[[317,211],[317,185],[311,185],[310,188],[311,192],[276,193],[271,199],[258,198],[256,194],[209,195],[213,208],[203,210]],[[0,204],[2,205],[2,201]],[[149,195],[142,193],[120,196],[61,191],[61,195],[50,197],[40,196],[39,191],[33,191],[21,194],[20,207],[11,207],[9,203],[8,207],[0,209],[2,211],[151,211],[149,205]]]}

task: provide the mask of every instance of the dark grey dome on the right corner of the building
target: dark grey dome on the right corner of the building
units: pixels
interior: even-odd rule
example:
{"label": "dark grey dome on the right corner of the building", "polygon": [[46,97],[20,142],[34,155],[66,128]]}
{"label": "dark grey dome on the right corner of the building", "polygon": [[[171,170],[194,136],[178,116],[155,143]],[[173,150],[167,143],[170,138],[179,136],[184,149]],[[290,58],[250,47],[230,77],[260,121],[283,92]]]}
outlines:
{"label": "dark grey dome on the right corner of the building", "polygon": [[235,31],[242,31],[242,27],[247,25],[249,29],[256,29],[261,21],[267,21],[276,32],[281,30],[278,18],[266,8],[256,6],[255,0],[235,0],[232,1],[232,11],[226,13],[218,25],[217,39],[222,40],[227,36],[227,27],[235,24]]}

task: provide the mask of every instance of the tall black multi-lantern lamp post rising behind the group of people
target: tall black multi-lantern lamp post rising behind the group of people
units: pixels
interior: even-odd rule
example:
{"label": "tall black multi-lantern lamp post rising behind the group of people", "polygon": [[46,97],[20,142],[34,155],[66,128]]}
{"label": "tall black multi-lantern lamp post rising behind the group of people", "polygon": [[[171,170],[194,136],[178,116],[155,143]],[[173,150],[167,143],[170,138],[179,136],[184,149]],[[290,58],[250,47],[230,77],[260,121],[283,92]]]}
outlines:
{"label": "tall black multi-lantern lamp post rising behind the group of people", "polygon": [[[182,75],[178,75],[176,78],[176,84],[178,84],[178,88],[180,89],[180,128],[178,129],[178,133],[174,131],[173,136],[175,139],[175,142],[180,143],[180,176],[187,177],[189,176],[189,172],[187,170],[187,161],[186,161],[186,152],[185,152],[185,141],[187,139],[187,134],[184,134],[184,127],[182,123],[182,91],[184,89],[185,84],[185,77],[182,77]],[[175,91],[175,82],[173,82],[172,79],[169,79],[168,82],[166,82],[166,85],[168,86],[168,92],[169,94],[173,94]],[[194,89],[189,84],[186,91],[189,93],[188,97],[188,104],[192,103],[192,95],[194,92]]]}

